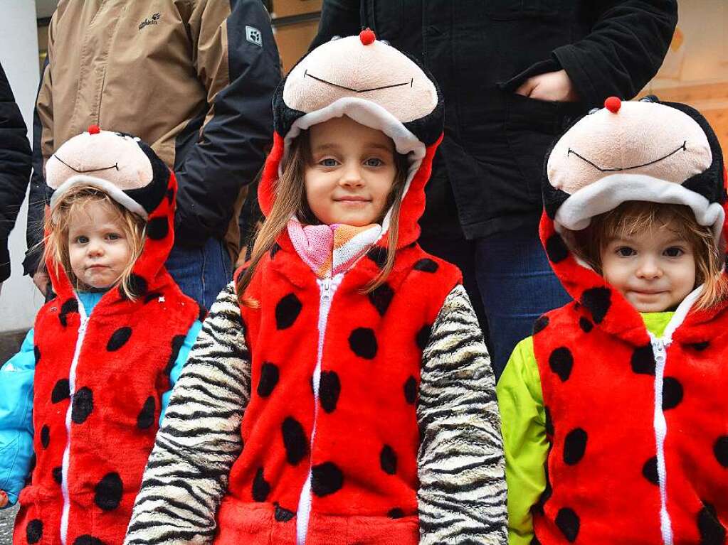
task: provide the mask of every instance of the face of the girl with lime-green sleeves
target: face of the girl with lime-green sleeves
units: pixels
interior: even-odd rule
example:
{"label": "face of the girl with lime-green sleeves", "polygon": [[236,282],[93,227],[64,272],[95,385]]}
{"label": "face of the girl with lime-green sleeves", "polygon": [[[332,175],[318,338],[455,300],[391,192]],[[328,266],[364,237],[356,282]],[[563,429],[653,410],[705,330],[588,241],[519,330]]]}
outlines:
{"label": "face of the girl with lime-green sleeves", "polygon": [[638,312],[676,307],[695,288],[692,246],[669,225],[610,239],[601,251],[601,269]]}

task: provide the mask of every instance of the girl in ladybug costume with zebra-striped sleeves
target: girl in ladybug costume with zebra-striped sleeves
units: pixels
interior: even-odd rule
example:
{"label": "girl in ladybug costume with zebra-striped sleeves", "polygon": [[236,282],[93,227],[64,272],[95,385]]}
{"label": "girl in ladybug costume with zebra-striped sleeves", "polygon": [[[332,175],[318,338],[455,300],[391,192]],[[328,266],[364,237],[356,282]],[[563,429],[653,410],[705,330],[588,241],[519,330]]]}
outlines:
{"label": "girl in ladybug costume with zebra-striped sleeves", "polygon": [[417,245],[432,78],[371,31],[274,98],[266,222],[175,387],[127,543],[506,541],[494,377],[455,267]]}

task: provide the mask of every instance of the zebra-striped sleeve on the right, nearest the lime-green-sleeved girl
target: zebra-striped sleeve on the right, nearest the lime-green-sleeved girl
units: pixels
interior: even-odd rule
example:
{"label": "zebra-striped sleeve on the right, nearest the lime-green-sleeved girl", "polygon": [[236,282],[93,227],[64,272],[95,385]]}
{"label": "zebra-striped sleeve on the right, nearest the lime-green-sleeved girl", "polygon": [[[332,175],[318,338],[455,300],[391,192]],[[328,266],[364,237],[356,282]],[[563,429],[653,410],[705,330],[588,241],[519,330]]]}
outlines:
{"label": "zebra-striped sleeve on the right, nearest the lime-green-sleeved girl", "polygon": [[422,354],[417,418],[420,544],[507,544],[496,384],[462,286],[445,299]]}

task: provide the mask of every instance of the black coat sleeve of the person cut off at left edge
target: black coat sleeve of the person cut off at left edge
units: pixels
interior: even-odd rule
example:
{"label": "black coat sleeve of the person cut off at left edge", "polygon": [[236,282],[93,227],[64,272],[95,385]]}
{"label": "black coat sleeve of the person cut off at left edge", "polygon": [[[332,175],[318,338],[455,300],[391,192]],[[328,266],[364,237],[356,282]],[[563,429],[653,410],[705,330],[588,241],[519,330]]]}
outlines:
{"label": "black coat sleeve of the person cut off at left edge", "polygon": [[31,146],[23,116],[0,66],[0,282],[10,276],[7,239],[31,175]]}

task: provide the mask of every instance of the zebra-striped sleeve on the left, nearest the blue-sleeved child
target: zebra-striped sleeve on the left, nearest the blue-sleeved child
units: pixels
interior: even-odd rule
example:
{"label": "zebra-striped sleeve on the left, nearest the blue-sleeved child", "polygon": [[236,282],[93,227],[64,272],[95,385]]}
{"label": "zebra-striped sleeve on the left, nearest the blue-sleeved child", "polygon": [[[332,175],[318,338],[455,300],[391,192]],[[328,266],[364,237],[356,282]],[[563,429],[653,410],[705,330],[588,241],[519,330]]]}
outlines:
{"label": "zebra-striped sleeve on the left, nearest the blue-sleeved child", "polygon": [[250,358],[234,284],[210,310],[175,385],[125,544],[206,544],[240,455]]}

